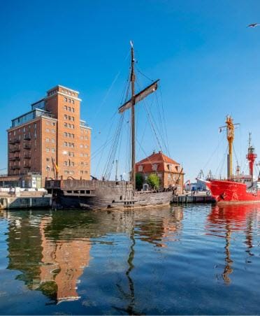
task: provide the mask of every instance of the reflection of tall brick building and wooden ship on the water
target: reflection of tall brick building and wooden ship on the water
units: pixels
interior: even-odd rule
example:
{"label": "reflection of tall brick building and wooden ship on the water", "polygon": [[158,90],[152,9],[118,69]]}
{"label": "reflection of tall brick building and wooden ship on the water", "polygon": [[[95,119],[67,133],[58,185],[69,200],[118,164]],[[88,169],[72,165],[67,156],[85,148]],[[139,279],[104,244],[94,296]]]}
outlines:
{"label": "reflection of tall brick building and wooden ship on the water", "polygon": [[[123,296],[124,306],[113,306],[117,313],[140,314],[136,310],[132,278],[136,240],[155,247],[167,247],[178,240],[182,229],[182,208],[109,212],[9,212],[8,269],[20,271],[22,280],[31,290],[41,291],[50,303],[80,298],[78,282],[84,269],[94,259],[95,245],[110,244],[110,234],[129,238],[125,280],[116,287]],[[116,246],[116,245],[115,245]]]}

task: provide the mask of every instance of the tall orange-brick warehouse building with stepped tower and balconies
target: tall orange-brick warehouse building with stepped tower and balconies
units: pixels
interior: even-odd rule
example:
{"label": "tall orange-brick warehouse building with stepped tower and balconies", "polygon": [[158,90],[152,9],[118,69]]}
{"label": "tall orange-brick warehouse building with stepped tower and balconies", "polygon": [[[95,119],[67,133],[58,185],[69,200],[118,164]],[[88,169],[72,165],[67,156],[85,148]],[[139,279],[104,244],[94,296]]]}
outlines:
{"label": "tall orange-brick warehouse building with stepped tower and balconies", "polygon": [[57,85],[8,129],[8,175],[83,178],[90,173],[91,129],[80,120],[79,92]]}

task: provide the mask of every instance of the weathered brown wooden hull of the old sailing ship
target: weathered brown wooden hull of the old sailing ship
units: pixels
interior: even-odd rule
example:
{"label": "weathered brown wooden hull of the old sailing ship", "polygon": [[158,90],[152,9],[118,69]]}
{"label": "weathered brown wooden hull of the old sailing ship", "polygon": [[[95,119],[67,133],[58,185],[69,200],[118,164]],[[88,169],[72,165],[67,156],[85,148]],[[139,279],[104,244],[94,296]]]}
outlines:
{"label": "weathered brown wooden hull of the old sailing ship", "polygon": [[61,180],[49,182],[55,208],[127,209],[166,206],[173,200],[173,191],[135,192],[128,182]]}

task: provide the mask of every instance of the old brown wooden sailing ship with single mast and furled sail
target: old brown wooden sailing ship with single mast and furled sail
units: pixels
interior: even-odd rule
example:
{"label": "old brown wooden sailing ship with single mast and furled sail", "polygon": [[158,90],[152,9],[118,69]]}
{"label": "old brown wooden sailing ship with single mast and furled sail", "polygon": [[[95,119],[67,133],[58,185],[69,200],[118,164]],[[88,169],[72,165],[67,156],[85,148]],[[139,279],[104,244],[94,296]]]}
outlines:
{"label": "old brown wooden sailing ship with single mast and furled sail", "polygon": [[165,206],[173,199],[173,189],[161,192],[136,191],[136,118],[135,105],[157,90],[159,80],[152,82],[142,91],[135,93],[134,50],[131,42],[131,99],[120,106],[119,113],[131,109],[131,180],[46,180],[45,188],[54,197],[54,203],[61,208],[143,208]]}

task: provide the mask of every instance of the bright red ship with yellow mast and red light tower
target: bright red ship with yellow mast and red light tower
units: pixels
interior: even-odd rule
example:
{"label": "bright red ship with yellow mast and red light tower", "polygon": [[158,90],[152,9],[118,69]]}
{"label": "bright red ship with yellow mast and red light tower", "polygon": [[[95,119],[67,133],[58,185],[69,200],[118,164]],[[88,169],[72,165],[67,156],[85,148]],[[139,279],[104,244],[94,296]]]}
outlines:
{"label": "bright red ship with yellow mast and red light tower", "polygon": [[[250,175],[241,175],[240,168],[236,168],[236,175],[233,175],[232,150],[234,139],[234,125],[231,116],[226,117],[226,126],[220,127],[220,131],[226,128],[226,138],[229,142],[229,154],[227,155],[227,180],[208,179],[203,180],[218,204],[231,203],[260,203],[260,181],[259,177],[254,180],[254,161],[257,154],[251,145],[251,134],[247,152]],[[200,179],[201,180],[201,179]]]}

